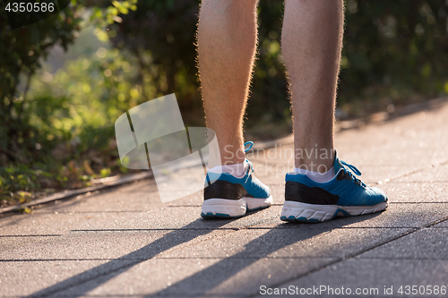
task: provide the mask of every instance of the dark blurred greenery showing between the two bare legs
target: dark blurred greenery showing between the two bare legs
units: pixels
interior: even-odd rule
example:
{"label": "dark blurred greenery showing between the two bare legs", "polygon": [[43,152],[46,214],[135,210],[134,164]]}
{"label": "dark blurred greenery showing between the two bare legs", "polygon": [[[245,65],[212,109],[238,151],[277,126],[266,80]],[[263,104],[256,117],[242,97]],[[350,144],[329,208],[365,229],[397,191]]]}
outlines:
{"label": "dark blurred greenery showing between the two bare legs", "polygon": [[291,132],[288,84],[280,53],[282,12],[282,2],[260,1],[258,55],[246,114],[249,132],[264,139]]}

